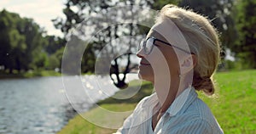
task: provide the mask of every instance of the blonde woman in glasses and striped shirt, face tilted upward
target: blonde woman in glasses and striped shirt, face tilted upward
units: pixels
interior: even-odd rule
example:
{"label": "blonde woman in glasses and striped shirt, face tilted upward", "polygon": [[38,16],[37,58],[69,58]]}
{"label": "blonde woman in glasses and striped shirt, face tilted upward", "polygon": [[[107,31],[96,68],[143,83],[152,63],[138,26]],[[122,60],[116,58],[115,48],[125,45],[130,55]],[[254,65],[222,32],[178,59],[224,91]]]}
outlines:
{"label": "blonde woman in glasses and striped shirt, face tilted upward", "polygon": [[205,17],[163,7],[137,52],[139,77],[151,81],[155,92],[137,104],[117,133],[223,133],[195,92],[214,93],[219,49],[217,31]]}

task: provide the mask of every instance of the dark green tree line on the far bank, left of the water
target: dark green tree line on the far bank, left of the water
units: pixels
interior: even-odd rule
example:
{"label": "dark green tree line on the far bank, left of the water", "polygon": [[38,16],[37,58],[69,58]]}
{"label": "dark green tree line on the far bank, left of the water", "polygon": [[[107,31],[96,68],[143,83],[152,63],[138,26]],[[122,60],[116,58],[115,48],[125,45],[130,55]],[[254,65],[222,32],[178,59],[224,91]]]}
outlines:
{"label": "dark green tree line on the far bank, left of the water", "polygon": [[61,68],[65,40],[47,36],[32,19],[3,9],[0,12],[0,66],[10,74],[14,70],[55,70]]}

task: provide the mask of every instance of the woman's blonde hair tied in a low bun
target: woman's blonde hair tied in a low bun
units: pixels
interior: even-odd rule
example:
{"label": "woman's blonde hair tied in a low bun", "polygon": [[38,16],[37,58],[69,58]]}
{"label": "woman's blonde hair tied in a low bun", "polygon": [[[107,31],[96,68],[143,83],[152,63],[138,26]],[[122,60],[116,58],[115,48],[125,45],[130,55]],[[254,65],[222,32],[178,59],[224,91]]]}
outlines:
{"label": "woman's blonde hair tied in a low bun", "polygon": [[161,8],[156,23],[166,19],[172,20],[177,25],[188,42],[191,53],[197,57],[192,86],[207,95],[212,95],[214,93],[212,74],[218,66],[220,53],[218,32],[206,17],[172,4]]}

